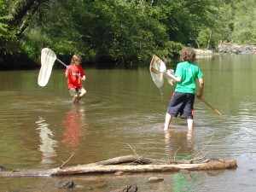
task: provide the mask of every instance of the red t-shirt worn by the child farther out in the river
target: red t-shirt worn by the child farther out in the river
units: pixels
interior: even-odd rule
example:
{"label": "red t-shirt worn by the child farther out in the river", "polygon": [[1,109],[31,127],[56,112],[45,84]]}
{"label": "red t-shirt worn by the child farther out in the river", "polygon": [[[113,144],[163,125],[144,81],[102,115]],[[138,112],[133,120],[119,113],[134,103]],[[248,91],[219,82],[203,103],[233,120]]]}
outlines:
{"label": "red t-shirt worn by the child farther out in the river", "polygon": [[81,78],[85,75],[83,68],[79,65],[78,67],[74,67],[73,64],[68,66],[70,70],[66,69],[65,73],[69,73],[67,78],[67,89],[70,88],[79,88],[82,87]]}

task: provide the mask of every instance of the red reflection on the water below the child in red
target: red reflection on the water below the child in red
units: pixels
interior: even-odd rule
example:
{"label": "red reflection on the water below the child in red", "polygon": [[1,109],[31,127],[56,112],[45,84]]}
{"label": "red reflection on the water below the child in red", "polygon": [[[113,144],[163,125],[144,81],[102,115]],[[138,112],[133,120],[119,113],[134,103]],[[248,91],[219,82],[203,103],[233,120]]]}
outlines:
{"label": "red reflection on the water below the child in red", "polygon": [[80,140],[84,139],[84,106],[74,105],[71,111],[66,113],[66,119],[63,125],[66,127],[63,132],[64,139],[61,141],[67,147],[74,147],[81,144]]}

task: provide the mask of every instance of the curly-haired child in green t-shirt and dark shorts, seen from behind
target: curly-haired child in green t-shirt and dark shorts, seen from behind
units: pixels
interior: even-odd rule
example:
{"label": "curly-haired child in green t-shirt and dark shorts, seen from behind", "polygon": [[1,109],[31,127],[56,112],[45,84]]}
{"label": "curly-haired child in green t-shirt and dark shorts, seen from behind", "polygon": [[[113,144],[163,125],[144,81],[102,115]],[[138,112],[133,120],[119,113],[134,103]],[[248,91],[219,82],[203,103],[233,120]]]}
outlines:
{"label": "curly-haired child in green t-shirt and dark shorts, seen from behind", "polygon": [[183,62],[177,64],[176,72],[174,75],[167,73],[172,79],[177,81],[172,99],[166,111],[166,123],[164,131],[169,129],[172,121],[172,116],[187,119],[188,129],[193,130],[193,109],[195,102],[195,80],[198,79],[200,91],[196,95],[201,99],[204,90],[203,74],[199,67],[193,62],[195,61],[195,50],[185,47],[180,51]]}

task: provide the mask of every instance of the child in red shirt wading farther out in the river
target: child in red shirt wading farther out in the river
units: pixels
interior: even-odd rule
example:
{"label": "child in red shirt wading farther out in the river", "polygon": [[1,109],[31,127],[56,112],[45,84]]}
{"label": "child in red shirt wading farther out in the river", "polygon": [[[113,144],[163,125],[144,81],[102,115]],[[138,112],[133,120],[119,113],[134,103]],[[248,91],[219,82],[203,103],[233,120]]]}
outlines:
{"label": "child in red shirt wading farther out in the river", "polygon": [[81,83],[81,80],[85,80],[85,74],[83,68],[80,66],[82,58],[79,55],[73,55],[71,64],[67,66],[65,75],[67,77],[67,89],[71,96],[73,96],[72,102],[74,104],[79,103],[79,100],[85,95],[86,90]]}

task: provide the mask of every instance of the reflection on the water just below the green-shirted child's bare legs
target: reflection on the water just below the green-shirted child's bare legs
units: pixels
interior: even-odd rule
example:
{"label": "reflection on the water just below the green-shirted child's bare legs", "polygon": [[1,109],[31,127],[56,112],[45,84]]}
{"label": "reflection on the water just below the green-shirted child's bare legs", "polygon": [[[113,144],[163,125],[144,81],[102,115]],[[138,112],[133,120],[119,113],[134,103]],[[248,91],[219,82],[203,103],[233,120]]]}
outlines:
{"label": "reflection on the water just below the green-shirted child's bare legs", "polygon": [[193,154],[193,130],[175,128],[165,131],[166,155],[171,159],[189,159]]}

